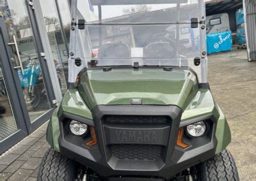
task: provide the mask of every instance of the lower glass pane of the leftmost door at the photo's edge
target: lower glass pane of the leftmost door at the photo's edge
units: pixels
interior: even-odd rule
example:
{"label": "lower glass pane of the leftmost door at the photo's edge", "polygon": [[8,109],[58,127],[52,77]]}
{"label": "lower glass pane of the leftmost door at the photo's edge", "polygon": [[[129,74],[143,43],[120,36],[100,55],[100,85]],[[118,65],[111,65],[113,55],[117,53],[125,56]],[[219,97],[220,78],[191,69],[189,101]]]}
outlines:
{"label": "lower glass pane of the leftmost door at the photo's edge", "polygon": [[17,131],[17,124],[13,116],[0,62],[0,141],[15,131]]}

